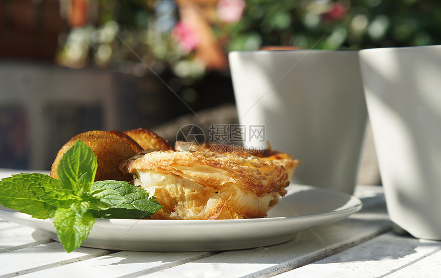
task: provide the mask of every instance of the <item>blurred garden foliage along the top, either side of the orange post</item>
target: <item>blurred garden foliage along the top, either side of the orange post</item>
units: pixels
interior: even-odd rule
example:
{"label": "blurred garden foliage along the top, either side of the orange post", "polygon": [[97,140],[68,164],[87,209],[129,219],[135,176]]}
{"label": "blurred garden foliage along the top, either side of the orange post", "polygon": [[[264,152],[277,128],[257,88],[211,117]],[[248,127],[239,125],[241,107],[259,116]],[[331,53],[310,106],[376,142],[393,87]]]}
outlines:
{"label": "blurred garden foliage along the top, either side of the orange post", "polygon": [[[98,5],[98,23],[72,29],[61,39],[62,64],[104,67],[141,57],[154,69],[170,68],[180,77],[204,75],[194,51],[183,51],[173,39],[179,9],[172,0],[98,0]],[[248,0],[237,22],[209,21],[225,55],[263,46],[364,49],[441,41],[436,0]]]}

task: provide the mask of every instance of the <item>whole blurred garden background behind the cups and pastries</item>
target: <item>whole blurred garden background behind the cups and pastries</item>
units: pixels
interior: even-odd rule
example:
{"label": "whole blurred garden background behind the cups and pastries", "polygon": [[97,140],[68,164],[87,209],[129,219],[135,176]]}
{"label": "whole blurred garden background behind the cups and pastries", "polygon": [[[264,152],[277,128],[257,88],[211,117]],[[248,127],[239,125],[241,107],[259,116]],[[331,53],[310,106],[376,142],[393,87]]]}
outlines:
{"label": "whole blurred garden background behind the cups and pastries", "polygon": [[440,40],[435,0],[0,0],[0,168],[49,169],[88,130],[236,123],[233,50]]}

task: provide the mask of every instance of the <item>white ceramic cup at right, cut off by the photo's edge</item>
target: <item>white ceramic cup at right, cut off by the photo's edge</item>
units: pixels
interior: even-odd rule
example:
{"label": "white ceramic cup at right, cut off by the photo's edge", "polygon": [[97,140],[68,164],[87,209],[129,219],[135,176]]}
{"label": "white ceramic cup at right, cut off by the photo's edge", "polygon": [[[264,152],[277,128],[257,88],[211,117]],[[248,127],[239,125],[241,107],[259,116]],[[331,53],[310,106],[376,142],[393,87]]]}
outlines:
{"label": "white ceramic cup at right, cut off by the photo's edge", "polygon": [[441,46],[359,53],[391,220],[441,240]]}

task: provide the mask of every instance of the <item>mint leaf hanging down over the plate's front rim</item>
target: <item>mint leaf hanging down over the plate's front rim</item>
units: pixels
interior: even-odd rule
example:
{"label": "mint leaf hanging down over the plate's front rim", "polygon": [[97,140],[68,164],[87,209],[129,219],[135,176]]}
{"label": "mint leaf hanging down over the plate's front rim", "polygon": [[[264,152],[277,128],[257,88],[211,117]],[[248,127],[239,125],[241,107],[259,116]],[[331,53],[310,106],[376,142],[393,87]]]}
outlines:
{"label": "mint leaf hanging down over the plate's front rim", "polygon": [[72,204],[69,208],[57,209],[53,223],[60,242],[67,252],[81,246],[89,236],[95,218],[85,202]]}

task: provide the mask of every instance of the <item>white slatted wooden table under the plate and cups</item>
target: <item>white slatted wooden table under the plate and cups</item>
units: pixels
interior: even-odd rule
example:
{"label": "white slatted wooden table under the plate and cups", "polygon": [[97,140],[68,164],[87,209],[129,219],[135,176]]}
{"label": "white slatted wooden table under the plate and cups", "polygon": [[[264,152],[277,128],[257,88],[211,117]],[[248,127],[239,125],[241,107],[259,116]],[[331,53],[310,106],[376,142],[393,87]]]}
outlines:
{"label": "white slatted wooden table under the plate and cups", "polygon": [[[0,178],[10,176],[0,170]],[[78,248],[0,220],[4,277],[437,277],[441,242],[392,231],[382,187],[357,186],[364,207],[275,246],[223,252],[134,252]],[[317,235],[323,240],[319,240]]]}

